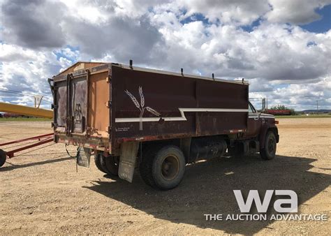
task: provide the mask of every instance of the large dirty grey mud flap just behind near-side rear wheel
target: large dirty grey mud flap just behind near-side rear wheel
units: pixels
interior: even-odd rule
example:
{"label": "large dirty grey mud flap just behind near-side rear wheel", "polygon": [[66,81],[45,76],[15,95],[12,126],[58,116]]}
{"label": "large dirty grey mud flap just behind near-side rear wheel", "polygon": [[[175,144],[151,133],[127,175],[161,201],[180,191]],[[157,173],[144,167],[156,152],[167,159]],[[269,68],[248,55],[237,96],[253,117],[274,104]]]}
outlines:
{"label": "large dirty grey mud flap just behind near-side rear wheel", "polygon": [[135,160],[137,159],[139,142],[123,142],[121,145],[121,156],[119,159],[119,177],[132,182],[135,171]]}

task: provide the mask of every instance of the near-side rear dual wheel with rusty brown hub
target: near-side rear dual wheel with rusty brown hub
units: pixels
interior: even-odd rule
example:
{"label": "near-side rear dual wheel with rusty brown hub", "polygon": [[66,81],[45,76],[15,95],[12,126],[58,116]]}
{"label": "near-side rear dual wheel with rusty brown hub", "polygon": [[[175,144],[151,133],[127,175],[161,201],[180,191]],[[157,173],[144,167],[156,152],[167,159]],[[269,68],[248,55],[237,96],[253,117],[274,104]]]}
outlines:
{"label": "near-side rear dual wheel with rusty brown hub", "polygon": [[185,165],[184,154],[179,147],[152,147],[143,156],[139,165],[140,176],[154,189],[169,190],[182,181]]}

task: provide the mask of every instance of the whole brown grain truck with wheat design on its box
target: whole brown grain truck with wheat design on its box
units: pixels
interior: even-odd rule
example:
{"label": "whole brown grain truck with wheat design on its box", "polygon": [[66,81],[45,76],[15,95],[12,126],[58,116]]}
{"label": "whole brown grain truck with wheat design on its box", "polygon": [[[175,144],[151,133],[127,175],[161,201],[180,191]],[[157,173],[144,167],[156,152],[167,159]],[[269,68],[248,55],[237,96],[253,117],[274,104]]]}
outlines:
{"label": "whole brown grain truck with wheat design on its box", "polygon": [[[94,154],[99,170],[157,189],[200,159],[260,152],[274,158],[274,116],[249,103],[249,84],[112,63],[78,62],[52,78],[54,141]],[[83,152],[84,150],[84,152]]]}

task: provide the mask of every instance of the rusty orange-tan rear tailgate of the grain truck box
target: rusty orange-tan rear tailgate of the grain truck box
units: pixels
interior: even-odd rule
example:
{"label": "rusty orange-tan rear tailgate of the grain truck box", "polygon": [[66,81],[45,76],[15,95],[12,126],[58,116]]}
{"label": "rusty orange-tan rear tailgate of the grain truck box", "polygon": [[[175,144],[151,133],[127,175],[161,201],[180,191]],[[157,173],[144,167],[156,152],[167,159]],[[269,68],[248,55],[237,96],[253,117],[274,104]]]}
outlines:
{"label": "rusty orange-tan rear tailgate of the grain truck box", "polygon": [[108,69],[80,70],[54,78],[54,131],[60,142],[97,149],[108,146],[107,76]]}

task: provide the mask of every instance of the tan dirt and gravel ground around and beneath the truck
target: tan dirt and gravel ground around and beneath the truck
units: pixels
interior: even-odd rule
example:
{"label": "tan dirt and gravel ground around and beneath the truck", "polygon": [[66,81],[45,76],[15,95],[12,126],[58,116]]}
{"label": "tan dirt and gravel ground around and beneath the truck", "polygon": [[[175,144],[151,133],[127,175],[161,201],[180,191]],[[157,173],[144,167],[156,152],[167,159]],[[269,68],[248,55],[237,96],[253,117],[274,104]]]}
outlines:
{"label": "tan dirt and gravel ground around and beneath the truck", "polygon": [[[189,165],[182,184],[154,191],[91,167],[78,168],[64,145],[22,152],[0,168],[0,233],[328,235],[331,217],[331,118],[280,119],[277,157],[218,158]],[[0,143],[52,131],[47,122],[0,122]],[[10,149],[10,148],[8,148]],[[70,152],[74,154],[75,147]],[[291,189],[300,214],[328,221],[205,221],[240,214],[233,189]],[[274,213],[272,207],[268,214]]]}

